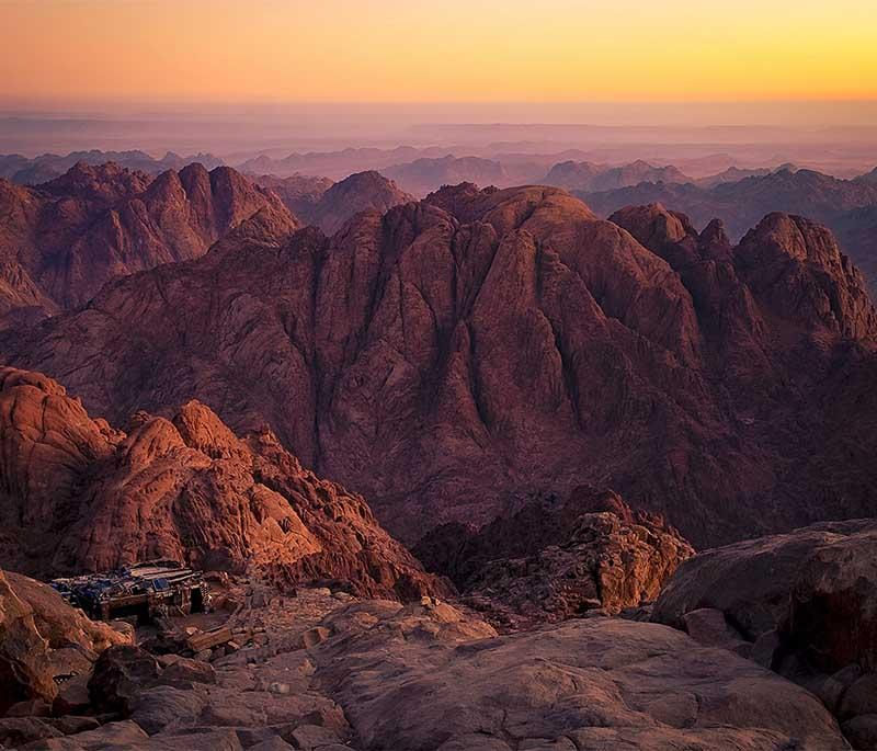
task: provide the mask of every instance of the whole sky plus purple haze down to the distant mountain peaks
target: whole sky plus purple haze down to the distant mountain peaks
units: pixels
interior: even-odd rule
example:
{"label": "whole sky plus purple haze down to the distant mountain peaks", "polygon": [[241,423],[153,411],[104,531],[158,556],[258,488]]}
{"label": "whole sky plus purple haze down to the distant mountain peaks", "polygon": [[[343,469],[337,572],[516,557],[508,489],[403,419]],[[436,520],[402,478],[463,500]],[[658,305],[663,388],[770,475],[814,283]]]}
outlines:
{"label": "whole sky plus purple haze down to the distant mountain peaks", "polygon": [[0,0],[0,152],[413,146],[855,174],[865,0]]}

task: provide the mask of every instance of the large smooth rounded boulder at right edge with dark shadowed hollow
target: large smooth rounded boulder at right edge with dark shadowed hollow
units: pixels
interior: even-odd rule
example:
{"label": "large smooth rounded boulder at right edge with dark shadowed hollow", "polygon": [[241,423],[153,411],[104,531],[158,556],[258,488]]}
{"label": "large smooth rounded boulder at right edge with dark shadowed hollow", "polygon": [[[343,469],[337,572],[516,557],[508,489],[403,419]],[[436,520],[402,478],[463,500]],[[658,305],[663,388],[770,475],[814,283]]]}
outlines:
{"label": "large smooth rounded boulder at right edge with dark shadowed hollow", "polygon": [[858,520],[707,550],[676,570],[652,618],[684,629],[692,611],[716,608],[748,641],[776,638],[825,674],[875,670],[875,549],[877,520]]}

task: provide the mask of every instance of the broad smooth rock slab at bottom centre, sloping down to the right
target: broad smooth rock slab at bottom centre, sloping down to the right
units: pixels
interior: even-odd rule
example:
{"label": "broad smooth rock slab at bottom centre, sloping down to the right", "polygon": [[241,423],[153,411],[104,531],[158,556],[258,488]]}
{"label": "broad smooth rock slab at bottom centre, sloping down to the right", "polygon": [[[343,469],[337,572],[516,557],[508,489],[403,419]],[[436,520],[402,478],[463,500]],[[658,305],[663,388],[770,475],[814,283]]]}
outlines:
{"label": "broad smooth rock slab at bottom centre, sloping down to the right", "polygon": [[844,748],[806,691],[663,626],[497,638],[451,607],[389,603],[327,621],[317,675],[365,749]]}

